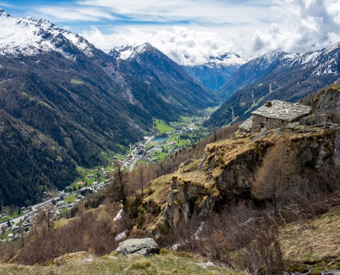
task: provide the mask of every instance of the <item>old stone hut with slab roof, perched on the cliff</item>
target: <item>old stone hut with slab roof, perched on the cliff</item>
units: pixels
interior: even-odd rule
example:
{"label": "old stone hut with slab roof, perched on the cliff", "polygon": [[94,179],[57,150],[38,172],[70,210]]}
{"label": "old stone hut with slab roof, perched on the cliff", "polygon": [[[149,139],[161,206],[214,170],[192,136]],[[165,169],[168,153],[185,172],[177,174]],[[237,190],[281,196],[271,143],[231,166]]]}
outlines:
{"label": "old stone hut with slab roof, perched on the cliff", "polygon": [[253,116],[240,124],[241,132],[257,132],[262,129],[276,129],[289,123],[299,122],[306,117],[311,107],[280,100],[267,101],[262,107],[253,111]]}

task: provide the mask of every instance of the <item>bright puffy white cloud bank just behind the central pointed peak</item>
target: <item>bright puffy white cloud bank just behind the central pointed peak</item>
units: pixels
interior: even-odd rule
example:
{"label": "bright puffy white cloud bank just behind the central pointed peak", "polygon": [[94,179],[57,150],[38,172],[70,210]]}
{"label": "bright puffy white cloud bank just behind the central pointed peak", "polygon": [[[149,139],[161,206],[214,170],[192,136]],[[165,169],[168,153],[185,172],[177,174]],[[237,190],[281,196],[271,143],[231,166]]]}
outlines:
{"label": "bright puffy white cloud bank just behind the central pointed peak", "polygon": [[126,44],[137,46],[148,42],[181,65],[200,65],[206,63],[209,56],[219,56],[227,52],[225,41],[219,39],[216,33],[199,32],[183,27],[174,27],[172,32],[161,30],[155,34],[131,29],[129,35],[122,33],[104,35],[93,27],[82,35],[103,50]]}

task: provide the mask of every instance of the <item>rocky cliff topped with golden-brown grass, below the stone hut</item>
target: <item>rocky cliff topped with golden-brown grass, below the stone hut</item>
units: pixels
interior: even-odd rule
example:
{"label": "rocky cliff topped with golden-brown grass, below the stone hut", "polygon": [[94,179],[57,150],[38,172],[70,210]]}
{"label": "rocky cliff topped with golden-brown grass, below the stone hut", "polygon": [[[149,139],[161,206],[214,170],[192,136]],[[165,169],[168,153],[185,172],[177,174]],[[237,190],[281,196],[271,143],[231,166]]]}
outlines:
{"label": "rocky cliff topped with golden-brown grass, below the stone hut", "polygon": [[182,219],[218,212],[233,199],[252,199],[256,170],[268,149],[280,139],[286,140],[288,150],[296,151],[303,171],[339,162],[334,152],[340,130],[333,129],[299,135],[279,135],[273,130],[208,144],[201,160],[172,175],[167,201],[150,232],[159,234],[157,225],[161,223],[176,226]]}

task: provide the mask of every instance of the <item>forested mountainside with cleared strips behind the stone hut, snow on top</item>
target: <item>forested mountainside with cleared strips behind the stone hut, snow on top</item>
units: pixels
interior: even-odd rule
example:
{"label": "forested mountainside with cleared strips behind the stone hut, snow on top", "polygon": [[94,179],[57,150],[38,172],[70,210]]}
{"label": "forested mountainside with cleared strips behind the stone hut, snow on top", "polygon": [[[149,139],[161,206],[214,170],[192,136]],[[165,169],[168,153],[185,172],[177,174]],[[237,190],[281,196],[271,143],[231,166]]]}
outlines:
{"label": "forested mountainside with cleared strips behind the stone hut, snow on top", "polygon": [[204,125],[222,126],[245,120],[266,100],[295,102],[339,80],[340,43],[325,50],[285,56],[280,62],[280,58],[274,58],[273,63],[268,63],[256,81],[228,98]]}

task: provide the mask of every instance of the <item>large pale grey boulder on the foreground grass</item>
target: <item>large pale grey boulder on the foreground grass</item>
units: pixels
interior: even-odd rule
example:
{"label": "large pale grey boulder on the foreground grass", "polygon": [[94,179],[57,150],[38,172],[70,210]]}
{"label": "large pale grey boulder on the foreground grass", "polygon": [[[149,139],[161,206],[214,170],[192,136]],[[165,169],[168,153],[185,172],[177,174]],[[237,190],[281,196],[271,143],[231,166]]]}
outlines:
{"label": "large pale grey boulder on the foreground grass", "polygon": [[152,256],[155,253],[159,254],[159,246],[151,238],[129,239],[122,241],[115,251],[123,256],[133,254]]}

